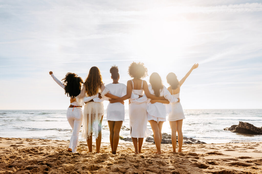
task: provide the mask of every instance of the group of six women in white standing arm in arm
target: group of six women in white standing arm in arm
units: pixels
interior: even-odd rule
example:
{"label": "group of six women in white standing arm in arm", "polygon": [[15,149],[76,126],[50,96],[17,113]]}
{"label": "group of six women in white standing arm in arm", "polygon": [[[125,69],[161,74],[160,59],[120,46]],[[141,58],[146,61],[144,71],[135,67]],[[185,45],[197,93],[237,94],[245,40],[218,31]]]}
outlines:
{"label": "group of six women in white standing arm in arm", "polygon": [[[109,100],[107,106],[107,122],[110,129],[110,144],[112,153],[116,154],[119,141],[119,132],[124,121],[124,100],[129,99],[130,135],[135,148],[135,154],[141,153],[144,137],[154,133],[156,154],[161,154],[162,125],[168,121],[172,131],[171,139],[173,152],[176,152],[176,132],[178,132],[178,152],[182,151],[183,134],[182,122],[184,117],[180,104],[180,87],[198,64],[194,64],[190,71],[178,81],[174,73],[167,75],[170,87],[162,84],[161,77],[157,73],[150,76],[150,85],[145,80],[147,68],[143,63],[133,62],[128,68],[128,74],[132,80],[127,85],[119,83],[118,67],[110,69],[113,83],[104,85],[100,70],[92,67],[85,82],[74,73],[67,73],[60,82],[52,73],[49,74],[65,90],[70,98],[70,106],[67,110],[67,119],[73,129],[68,151],[76,152],[79,131],[83,122],[82,137],[87,140],[89,152],[92,152],[92,135],[96,138],[96,153],[100,153],[101,124],[104,115],[103,100]],[[172,93],[172,94],[171,94]],[[171,103],[171,108],[165,104]],[[84,113],[82,112],[84,106]],[[152,131],[147,128],[149,121]]]}

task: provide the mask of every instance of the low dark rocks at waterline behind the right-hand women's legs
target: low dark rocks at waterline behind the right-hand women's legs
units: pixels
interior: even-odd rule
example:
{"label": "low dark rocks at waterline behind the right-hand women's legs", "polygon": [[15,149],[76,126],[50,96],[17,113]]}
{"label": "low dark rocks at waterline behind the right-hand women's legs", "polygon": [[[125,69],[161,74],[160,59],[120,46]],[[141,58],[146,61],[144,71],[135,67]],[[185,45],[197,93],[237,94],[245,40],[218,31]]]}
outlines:
{"label": "low dark rocks at waterline behind the right-hand women's legs", "polygon": [[[152,137],[148,136],[146,138],[146,142],[155,143],[154,135],[152,135]],[[187,137],[183,137],[183,143],[186,143],[186,144],[206,144],[205,142],[195,140],[193,138],[187,138]],[[171,135],[167,134],[167,133],[163,133],[161,144],[172,144]]]}

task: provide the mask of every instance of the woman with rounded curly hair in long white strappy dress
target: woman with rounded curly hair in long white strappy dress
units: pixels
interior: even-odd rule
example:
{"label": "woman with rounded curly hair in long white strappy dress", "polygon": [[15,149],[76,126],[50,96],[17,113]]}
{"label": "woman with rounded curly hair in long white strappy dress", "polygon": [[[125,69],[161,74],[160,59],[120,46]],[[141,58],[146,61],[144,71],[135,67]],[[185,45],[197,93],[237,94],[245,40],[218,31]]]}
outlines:
{"label": "woman with rounded curly hair in long white strappy dress", "polygon": [[[128,68],[128,74],[133,79],[127,81],[127,94],[121,98],[109,100],[110,103],[116,103],[129,99],[132,93],[143,95],[143,92],[147,98],[165,100],[164,97],[156,97],[155,95],[150,94],[147,82],[142,80],[145,76],[147,76],[147,68],[144,66],[144,63],[131,63]],[[139,154],[141,153],[144,137],[152,134],[152,131],[147,128],[147,112],[145,101],[142,103],[129,104],[129,121],[130,135],[135,147],[135,154]]]}

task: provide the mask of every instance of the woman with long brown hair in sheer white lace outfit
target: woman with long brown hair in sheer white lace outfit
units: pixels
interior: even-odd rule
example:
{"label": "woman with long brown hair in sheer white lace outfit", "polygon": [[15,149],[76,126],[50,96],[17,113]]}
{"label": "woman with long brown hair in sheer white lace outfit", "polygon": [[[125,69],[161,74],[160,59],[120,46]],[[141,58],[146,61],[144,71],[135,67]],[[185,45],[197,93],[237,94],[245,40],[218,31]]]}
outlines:
{"label": "woman with long brown hair in sheer white lace outfit", "polygon": [[100,153],[104,105],[103,100],[101,100],[101,102],[95,102],[90,96],[96,96],[98,93],[103,97],[108,93],[108,90],[102,82],[100,70],[97,67],[92,67],[89,70],[88,77],[84,82],[81,93],[73,100],[76,100],[77,103],[82,105],[86,103],[84,107],[82,137],[87,140],[89,152],[92,152],[92,135],[95,134],[96,153]]}

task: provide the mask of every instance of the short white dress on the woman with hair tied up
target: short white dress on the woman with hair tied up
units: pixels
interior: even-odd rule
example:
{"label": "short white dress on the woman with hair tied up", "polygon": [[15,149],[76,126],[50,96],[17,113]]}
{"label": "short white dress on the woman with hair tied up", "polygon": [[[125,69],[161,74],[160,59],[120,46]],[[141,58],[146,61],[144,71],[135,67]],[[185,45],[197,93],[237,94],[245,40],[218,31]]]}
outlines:
{"label": "short white dress on the woman with hair tied up", "polygon": [[[123,97],[127,93],[127,86],[123,83],[109,83],[106,85],[109,93],[117,97]],[[106,109],[107,121],[125,121],[125,106],[119,102],[109,103]]]}

